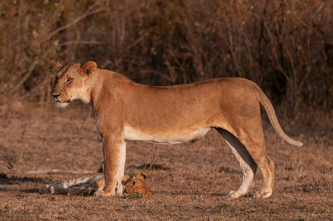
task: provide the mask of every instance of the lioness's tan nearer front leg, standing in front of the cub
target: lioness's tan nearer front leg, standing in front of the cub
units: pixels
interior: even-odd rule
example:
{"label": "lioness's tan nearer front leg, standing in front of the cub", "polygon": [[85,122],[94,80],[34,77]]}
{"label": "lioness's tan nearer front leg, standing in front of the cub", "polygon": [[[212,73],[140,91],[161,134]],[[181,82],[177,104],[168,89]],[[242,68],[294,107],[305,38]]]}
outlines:
{"label": "lioness's tan nearer front leg, standing in front of the cub", "polygon": [[94,196],[115,195],[117,183],[117,168],[119,165],[120,151],[124,143],[124,138],[114,134],[103,135],[103,155],[104,155],[104,177],[105,186],[103,190],[98,190]]}

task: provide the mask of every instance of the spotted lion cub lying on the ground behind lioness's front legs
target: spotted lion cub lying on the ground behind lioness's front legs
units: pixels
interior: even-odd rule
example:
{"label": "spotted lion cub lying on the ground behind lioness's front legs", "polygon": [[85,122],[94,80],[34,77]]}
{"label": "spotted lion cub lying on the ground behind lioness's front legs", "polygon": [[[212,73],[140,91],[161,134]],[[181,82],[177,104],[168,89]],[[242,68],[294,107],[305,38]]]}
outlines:
{"label": "spotted lion cub lying on the ground behind lioness's front legs", "polygon": [[[137,177],[125,175],[123,194],[132,195],[136,192],[142,193],[144,197],[154,196],[149,190],[148,184],[145,182],[147,173],[141,171]],[[39,188],[40,193],[62,193],[70,195],[89,196],[96,191],[104,188],[105,180],[103,173],[95,173],[91,175],[79,176],[72,179],[43,185]]]}

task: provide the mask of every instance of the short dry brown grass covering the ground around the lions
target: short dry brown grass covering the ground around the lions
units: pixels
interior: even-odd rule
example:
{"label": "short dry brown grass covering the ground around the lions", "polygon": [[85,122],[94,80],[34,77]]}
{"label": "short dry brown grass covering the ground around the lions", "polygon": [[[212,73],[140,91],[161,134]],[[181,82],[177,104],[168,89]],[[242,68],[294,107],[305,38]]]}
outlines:
{"label": "short dry brown grass covering the ground around the lions", "polygon": [[[0,108],[0,217],[4,220],[125,219],[125,220],[319,220],[332,219],[332,131],[309,133],[282,127],[303,147],[287,145],[263,120],[267,151],[275,163],[273,196],[253,199],[261,187],[258,171],[248,195],[226,198],[238,188],[240,168],[215,131],[197,142],[159,145],[155,163],[170,170],[151,169],[147,182],[154,198],[67,197],[39,194],[38,188],[77,174],[52,173],[25,177],[30,170],[96,170],[102,154],[101,138],[89,107],[74,102],[66,110],[40,109],[13,103]],[[153,146],[127,143],[125,172],[151,162]],[[13,162],[13,161],[12,161]],[[12,163],[11,162],[11,163]],[[146,168],[148,170],[148,167]],[[79,174],[80,175],[80,174]]]}

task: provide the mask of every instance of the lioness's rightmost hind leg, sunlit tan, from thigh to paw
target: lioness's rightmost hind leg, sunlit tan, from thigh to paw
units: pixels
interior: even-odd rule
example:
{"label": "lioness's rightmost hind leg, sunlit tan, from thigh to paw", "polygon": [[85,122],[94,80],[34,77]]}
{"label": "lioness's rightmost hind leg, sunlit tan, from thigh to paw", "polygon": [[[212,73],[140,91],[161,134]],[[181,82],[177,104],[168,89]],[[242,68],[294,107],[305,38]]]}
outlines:
{"label": "lioness's rightmost hind leg, sunlit tan, from thigh to paw", "polygon": [[[254,125],[251,125],[254,127]],[[260,191],[253,194],[255,198],[266,198],[272,195],[274,184],[274,163],[268,157],[262,126],[258,130],[239,131],[238,139],[244,144],[246,150],[260,168],[262,173],[262,187]],[[260,130],[259,130],[260,129]],[[253,133],[251,133],[253,131]]]}

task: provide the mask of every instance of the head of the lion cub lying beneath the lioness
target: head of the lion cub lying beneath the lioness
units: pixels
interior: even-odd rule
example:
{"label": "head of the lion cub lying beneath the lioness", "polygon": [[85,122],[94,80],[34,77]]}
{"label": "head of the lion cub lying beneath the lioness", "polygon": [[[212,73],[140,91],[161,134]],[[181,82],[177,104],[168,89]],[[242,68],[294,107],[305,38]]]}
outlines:
{"label": "head of the lion cub lying beneath the lioness", "polygon": [[137,177],[132,177],[130,175],[125,175],[125,180],[123,181],[124,195],[132,195],[136,192],[142,193],[144,197],[154,196],[149,190],[148,184],[145,182],[147,178],[147,173],[141,171]]}

